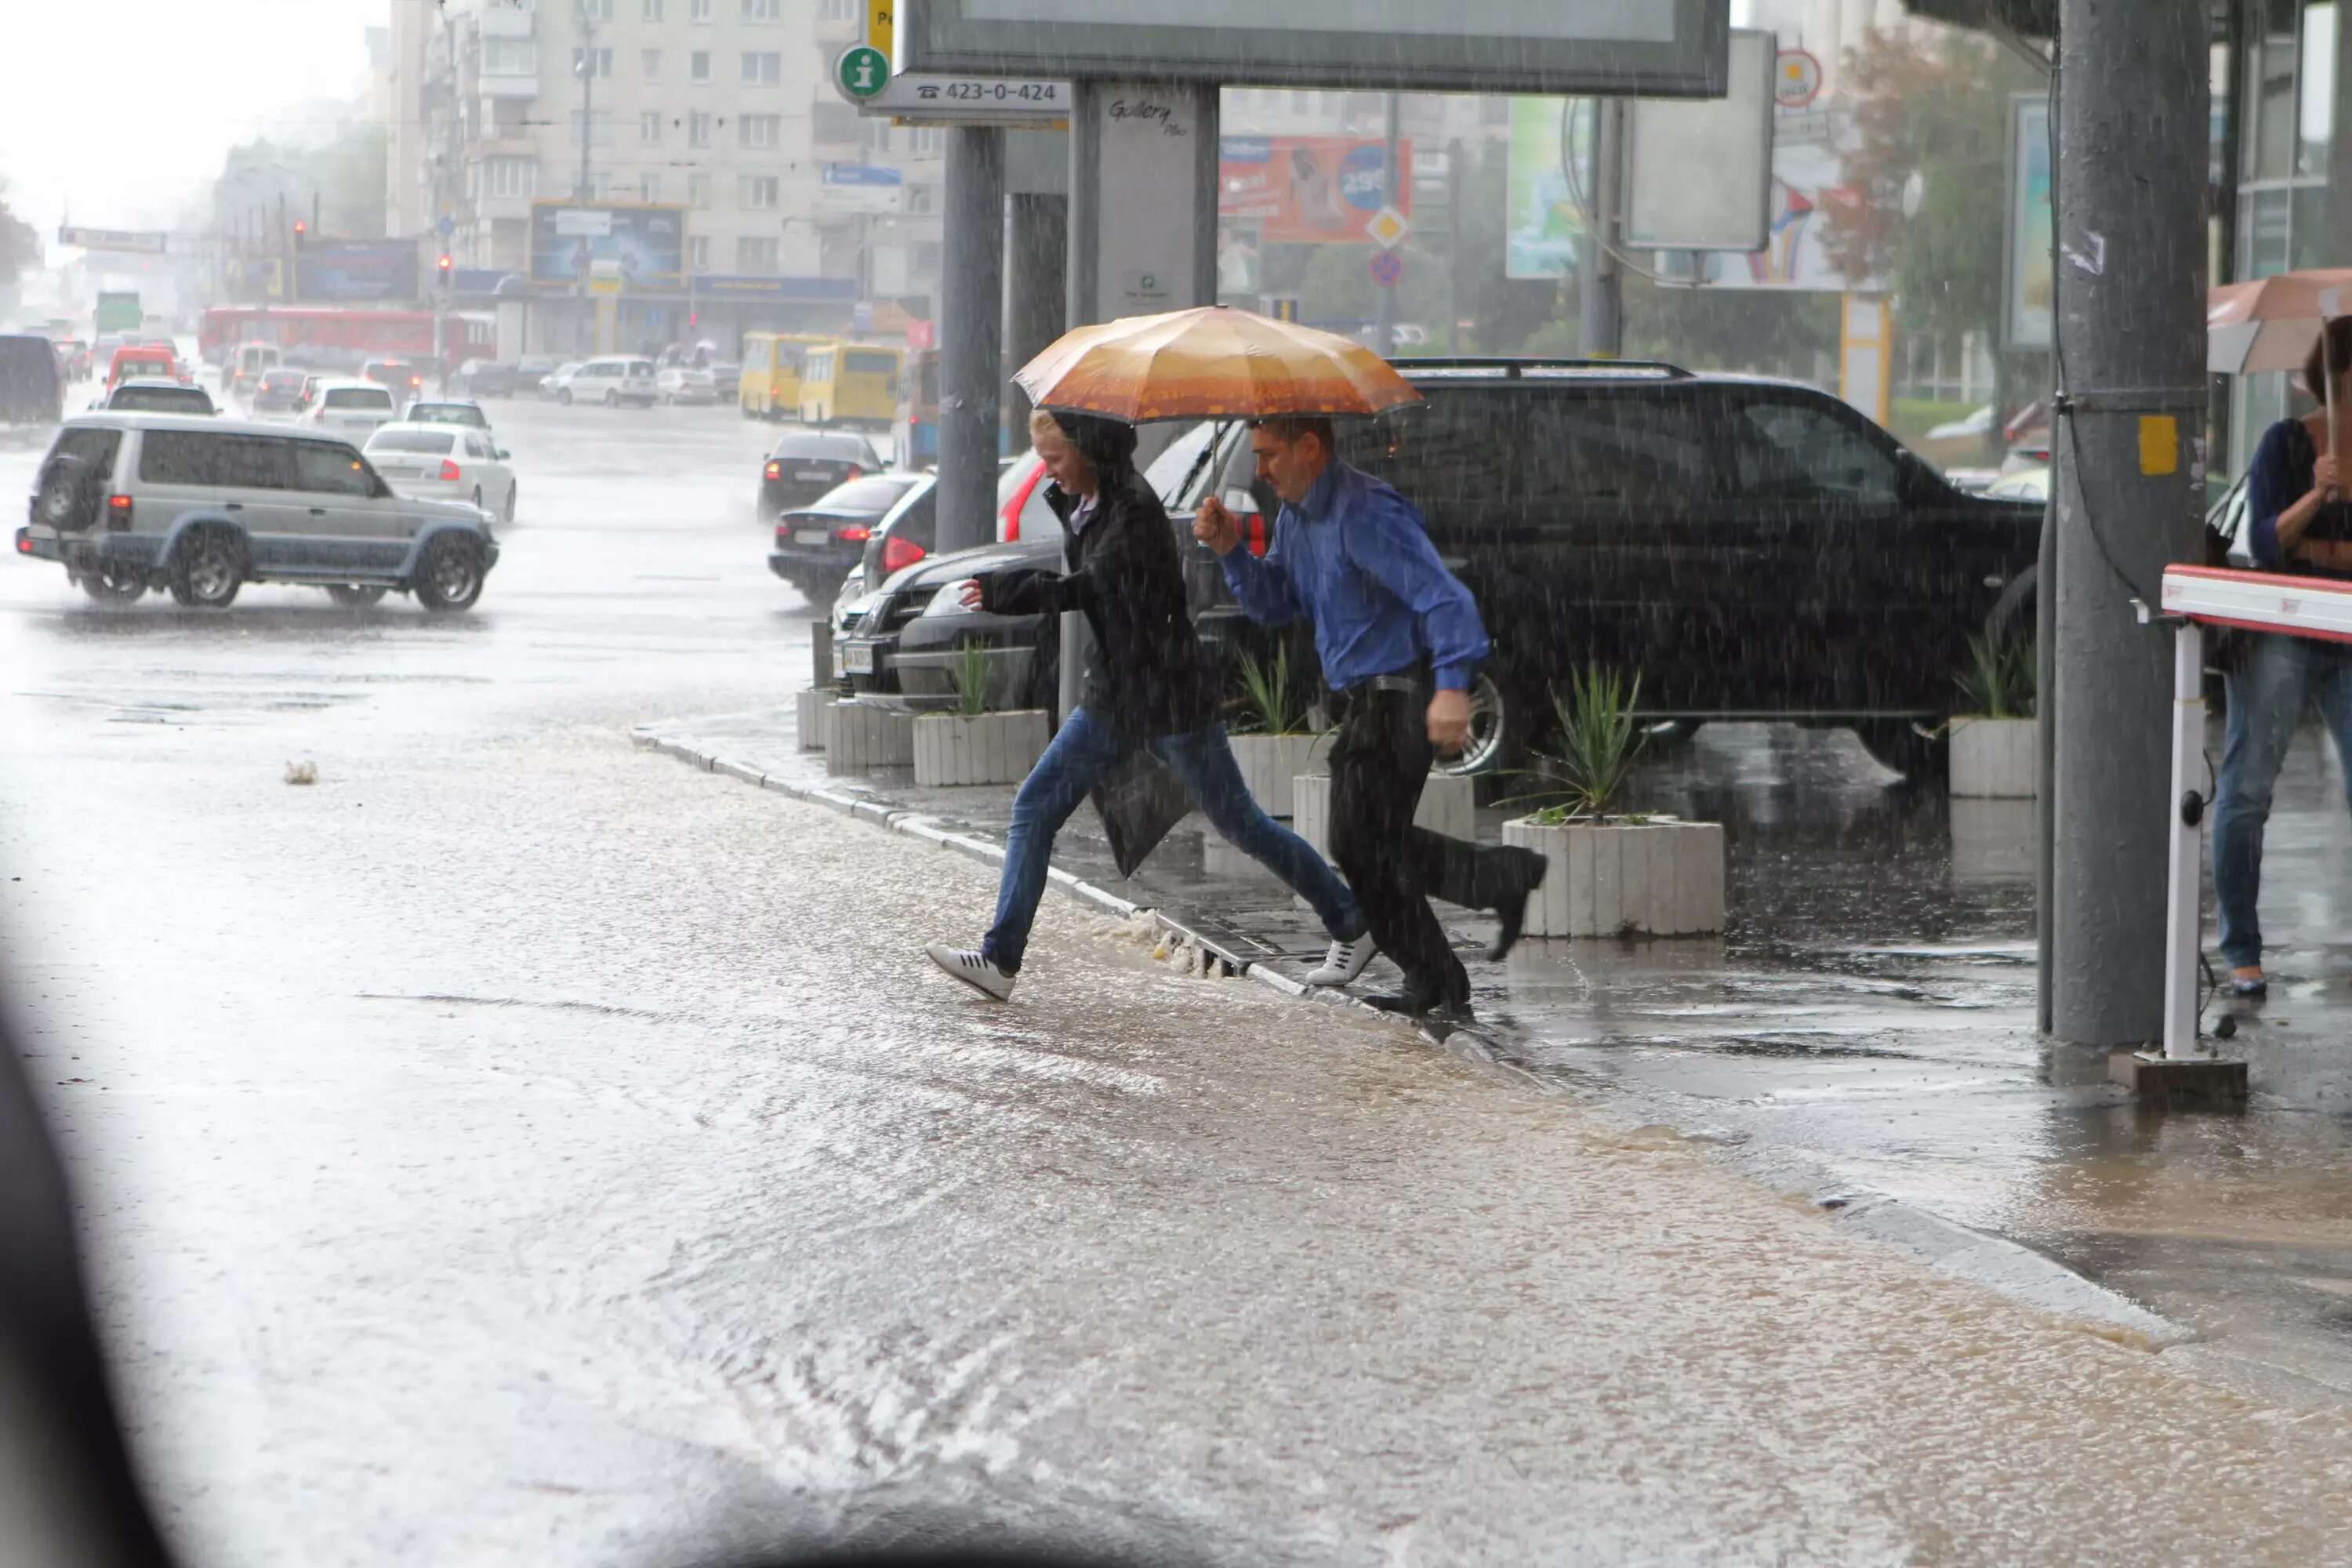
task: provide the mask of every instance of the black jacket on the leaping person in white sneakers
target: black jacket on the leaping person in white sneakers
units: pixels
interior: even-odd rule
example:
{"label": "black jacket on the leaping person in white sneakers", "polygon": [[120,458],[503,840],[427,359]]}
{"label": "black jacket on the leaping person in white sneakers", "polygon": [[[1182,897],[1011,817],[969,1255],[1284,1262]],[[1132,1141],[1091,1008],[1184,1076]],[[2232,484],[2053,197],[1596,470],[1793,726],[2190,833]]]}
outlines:
{"label": "black jacket on the leaping person in white sneakers", "polygon": [[[1077,496],[1051,484],[1044,498],[1068,529]],[[1063,555],[1068,576],[983,578],[985,609],[1082,611],[1094,628],[1082,701],[1122,736],[1181,736],[1214,722],[1216,668],[1185,614],[1174,524],[1141,473],[1124,463],[1103,470],[1094,520]]]}

